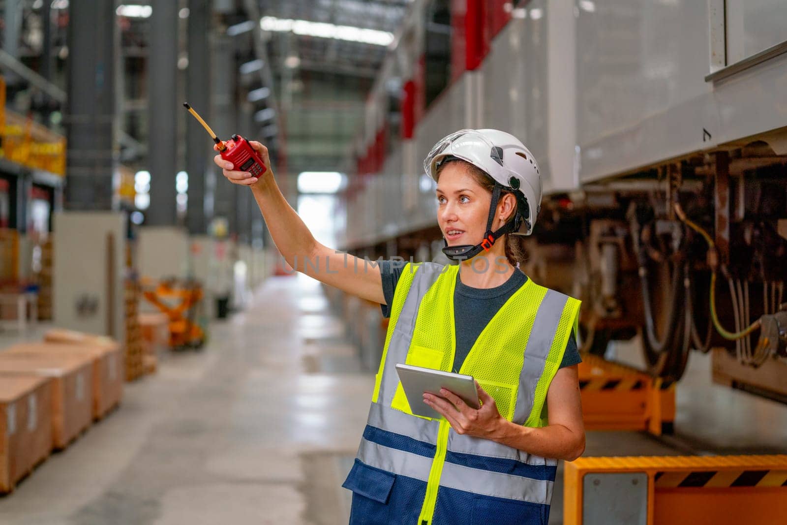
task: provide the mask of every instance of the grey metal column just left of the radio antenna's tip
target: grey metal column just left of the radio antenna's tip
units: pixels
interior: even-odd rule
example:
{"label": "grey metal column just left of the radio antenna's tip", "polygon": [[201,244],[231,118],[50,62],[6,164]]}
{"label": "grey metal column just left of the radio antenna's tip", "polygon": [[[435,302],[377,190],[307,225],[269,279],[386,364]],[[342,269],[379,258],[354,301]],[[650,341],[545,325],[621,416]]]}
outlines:
{"label": "grey metal column just left of the radio antenna's tip", "polygon": [[[113,2],[105,2],[113,3]],[[148,165],[150,209],[146,224],[176,224],[178,2],[153,0],[148,59]]]}

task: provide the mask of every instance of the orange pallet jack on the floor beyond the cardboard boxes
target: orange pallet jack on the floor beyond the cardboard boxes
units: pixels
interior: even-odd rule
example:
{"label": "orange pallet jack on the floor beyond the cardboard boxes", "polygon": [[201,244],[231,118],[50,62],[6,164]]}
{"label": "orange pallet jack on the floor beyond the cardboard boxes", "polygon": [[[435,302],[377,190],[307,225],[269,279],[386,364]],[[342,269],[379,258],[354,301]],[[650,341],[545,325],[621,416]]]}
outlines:
{"label": "orange pallet jack on the floor beyond the cardboard boxes", "polygon": [[205,330],[198,322],[204,295],[198,281],[168,279],[142,290],[142,294],[167,315],[170,348],[198,349],[205,344]]}

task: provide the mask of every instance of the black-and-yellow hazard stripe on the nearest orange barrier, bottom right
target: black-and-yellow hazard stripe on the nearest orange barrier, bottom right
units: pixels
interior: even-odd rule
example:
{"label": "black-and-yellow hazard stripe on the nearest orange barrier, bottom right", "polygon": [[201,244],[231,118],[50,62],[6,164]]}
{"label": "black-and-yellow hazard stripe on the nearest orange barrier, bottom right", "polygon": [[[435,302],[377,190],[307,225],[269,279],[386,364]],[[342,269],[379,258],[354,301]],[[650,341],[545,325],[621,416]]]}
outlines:
{"label": "black-and-yellow hazard stripe on the nearest orange barrier, bottom right", "polygon": [[730,471],[692,471],[656,472],[654,476],[657,489],[678,489],[688,487],[787,487],[787,471],[772,470],[730,470]]}

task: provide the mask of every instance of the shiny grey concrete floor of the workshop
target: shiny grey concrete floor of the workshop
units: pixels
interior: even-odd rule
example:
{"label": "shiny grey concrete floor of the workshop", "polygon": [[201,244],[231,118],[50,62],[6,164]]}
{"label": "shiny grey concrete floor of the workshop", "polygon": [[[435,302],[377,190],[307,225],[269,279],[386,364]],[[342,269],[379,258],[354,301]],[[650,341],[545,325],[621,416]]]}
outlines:
{"label": "shiny grey concrete floor of the workshop", "polygon": [[[210,336],[203,351],[172,354],[128,384],[120,409],[0,497],[0,523],[346,523],[341,484],[374,375],[320,287],[268,279]],[[632,348],[611,353],[636,361]],[[785,452],[787,407],[712,386],[708,367],[693,356],[678,387],[678,438],[589,432],[586,454]],[[560,475],[550,523],[562,522]]]}

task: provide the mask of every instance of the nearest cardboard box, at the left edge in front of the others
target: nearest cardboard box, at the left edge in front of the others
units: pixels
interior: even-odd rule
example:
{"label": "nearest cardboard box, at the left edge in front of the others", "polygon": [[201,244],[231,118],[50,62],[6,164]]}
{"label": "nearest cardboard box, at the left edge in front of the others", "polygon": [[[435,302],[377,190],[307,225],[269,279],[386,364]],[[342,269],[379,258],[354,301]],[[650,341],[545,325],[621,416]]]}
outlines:
{"label": "nearest cardboard box, at the left edge in front of the others", "polygon": [[52,452],[52,382],[39,375],[0,377],[0,494],[13,490]]}

